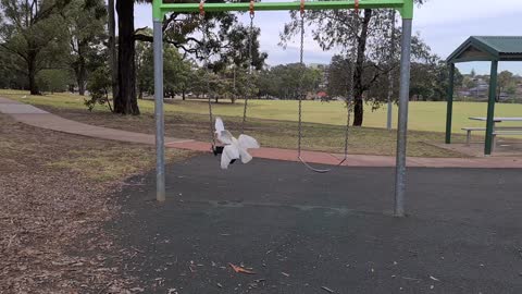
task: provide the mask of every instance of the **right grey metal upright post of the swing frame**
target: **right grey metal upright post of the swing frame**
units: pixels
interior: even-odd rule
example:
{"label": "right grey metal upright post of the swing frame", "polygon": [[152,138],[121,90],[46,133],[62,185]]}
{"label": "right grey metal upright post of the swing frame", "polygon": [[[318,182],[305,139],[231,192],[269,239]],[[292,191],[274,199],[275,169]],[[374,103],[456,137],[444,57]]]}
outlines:
{"label": "right grey metal upright post of the swing frame", "polygon": [[411,19],[402,19],[400,53],[399,121],[397,124],[397,166],[395,174],[395,216],[405,216],[406,144],[408,132],[408,103],[410,100]]}

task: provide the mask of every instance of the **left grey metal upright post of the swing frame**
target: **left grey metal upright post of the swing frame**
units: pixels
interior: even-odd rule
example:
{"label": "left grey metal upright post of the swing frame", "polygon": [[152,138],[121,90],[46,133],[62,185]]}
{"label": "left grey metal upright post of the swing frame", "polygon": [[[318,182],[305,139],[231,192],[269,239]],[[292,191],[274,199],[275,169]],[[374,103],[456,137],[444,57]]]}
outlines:
{"label": "left grey metal upright post of the swing frame", "polygon": [[156,199],[165,200],[165,138],[163,118],[163,23],[154,17]]}

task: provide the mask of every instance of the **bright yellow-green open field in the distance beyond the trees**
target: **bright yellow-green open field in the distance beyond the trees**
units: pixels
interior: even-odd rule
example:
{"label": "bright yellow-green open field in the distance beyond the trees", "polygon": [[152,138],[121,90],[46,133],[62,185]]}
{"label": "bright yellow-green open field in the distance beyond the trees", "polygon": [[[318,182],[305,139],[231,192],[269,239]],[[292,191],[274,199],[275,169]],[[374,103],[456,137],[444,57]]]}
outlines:
{"label": "bright yellow-green open field in the distance beyond the trees", "polygon": [[[66,108],[85,109],[83,98],[70,94],[54,94],[49,96],[27,96],[25,91],[0,90],[0,95],[23,100],[32,105],[55,106]],[[204,101],[178,101],[165,105],[165,112],[173,113],[208,113],[208,105]],[[144,113],[153,112],[153,101],[140,100],[140,110]],[[249,101],[248,114],[256,119],[297,121],[297,101],[290,100],[251,100]],[[462,133],[464,126],[482,126],[484,123],[470,121],[469,117],[485,117],[486,103],[484,102],[455,102],[453,103],[453,133]],[[238,117],[243,114],[243,100],[231,105],[223,100],[213,106],[214,114],[223,117]],[[97,107],[103,111],[103,107]],[[522,105],[520,103],[497,103],[496,117],[522,117]],[[304,101],[303,121],[311,123],[323,123],[343,125],[346,122],[346,108],[344,102],[320,102]],[[397,123],[397,107],[394,107],[394,126]],[[417,131],[444,132],[446,124],[446,102],[410,102],[409,128]],[[365,106],[365,127],[385,127],[386,107],[372,111],[371,106]]]}

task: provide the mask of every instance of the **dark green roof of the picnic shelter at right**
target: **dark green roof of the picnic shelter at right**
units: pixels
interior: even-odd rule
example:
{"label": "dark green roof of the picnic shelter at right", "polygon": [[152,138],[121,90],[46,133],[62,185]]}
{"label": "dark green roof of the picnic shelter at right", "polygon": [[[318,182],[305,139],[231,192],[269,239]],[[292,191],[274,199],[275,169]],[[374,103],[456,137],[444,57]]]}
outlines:
{"label": "dark green roof of the picnic shelter at right", "polygon": [[522,36],[472,36],[446,61],[458,63],[493,60],[522,61]]}

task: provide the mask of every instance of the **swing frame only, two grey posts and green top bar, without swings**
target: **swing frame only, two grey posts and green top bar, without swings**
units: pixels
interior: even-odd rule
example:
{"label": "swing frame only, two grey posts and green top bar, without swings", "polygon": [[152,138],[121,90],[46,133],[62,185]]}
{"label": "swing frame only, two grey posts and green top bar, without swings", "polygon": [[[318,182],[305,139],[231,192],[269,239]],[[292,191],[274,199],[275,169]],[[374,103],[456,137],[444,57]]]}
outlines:
{"label": "swing frame only, two grey posts and green top bar, without swings", "polygon": [[406,140],[408,132],[408,102],[410,87],[411,32],[413,0],[348,0],[348,1],[295,1],[295,2],[224,2],[224,3],[164,3],[152,1],[154,30],[154,115],[157,149],[157,199],[165,200],[165,145],[163,113],[163,20],[167,13],[291,11],[291,10],[352,10],[395,9],[402,16],[400,61],[399,115],[397,127],[397,156],[395,176],[395,207],[397,217],[405,216],[406,195]]}

